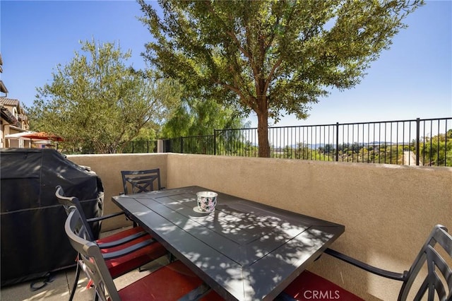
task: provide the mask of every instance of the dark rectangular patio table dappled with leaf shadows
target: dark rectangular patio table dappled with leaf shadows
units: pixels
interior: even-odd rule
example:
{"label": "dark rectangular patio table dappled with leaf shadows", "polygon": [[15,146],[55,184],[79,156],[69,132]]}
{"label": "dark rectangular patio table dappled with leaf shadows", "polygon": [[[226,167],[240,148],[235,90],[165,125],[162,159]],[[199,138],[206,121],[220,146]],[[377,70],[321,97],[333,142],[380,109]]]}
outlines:
{"label": "dark rectangular patio table dappled with leaf shadows", "polygon": [[196,212],[196,192],[209,190],[192,186],[112,200],[226,300],[273,300],[345,230],[220,191],[215,211]]}

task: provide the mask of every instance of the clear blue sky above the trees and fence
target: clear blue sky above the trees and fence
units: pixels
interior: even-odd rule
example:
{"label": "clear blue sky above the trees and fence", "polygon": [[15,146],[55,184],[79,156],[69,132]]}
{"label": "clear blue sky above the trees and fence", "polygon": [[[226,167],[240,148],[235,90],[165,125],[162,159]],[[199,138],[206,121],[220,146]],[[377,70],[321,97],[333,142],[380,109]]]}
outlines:
{"label": "clear blue sky above the trees and fence", "polygon": [[[157,3],[155,3],[157,5]],[[119,42],[133,57],[126,64],[145,67],[140,56],[150,34],[137,20],[135,1],[0,2],[1,79],[8,98],[32,105],[36,87],[52,81],[57,64],[79,52],[79,40]],[[333,90],[311,105],[310,117],[284,117],[277,126],[374,122],[452,116],[452,1],[426,1],[405,19],[388,51],[351,90]],[[250,116],[251,126],[256,118]],[[270,121],[270,124],[272,122]]]}

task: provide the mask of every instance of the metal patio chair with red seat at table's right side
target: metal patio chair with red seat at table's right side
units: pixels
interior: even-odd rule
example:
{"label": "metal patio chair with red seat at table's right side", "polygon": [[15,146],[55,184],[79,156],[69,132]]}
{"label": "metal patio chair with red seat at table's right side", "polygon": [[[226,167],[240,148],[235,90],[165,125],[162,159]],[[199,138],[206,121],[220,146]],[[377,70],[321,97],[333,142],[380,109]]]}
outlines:
{"label": "metal patio chair with red seat at table's right side", "polygon": [[[437,247],[437,249],[435,249]],[[438,252],[439,249],[442,251]],[[399,301],[405,301],[410,293],[415,293],[414,300],[421,300],[422,297],[426,297],[427,300],[433,301],[436,293],[436,297],[441,301],[452,300],[452,236],[447,232],[446,227],[442,225],[434,226],[427,241],[422,246],[419,254],[408,271],[403,273],[395,273],[392,271],[386,271],[375,266],[370,266],[362,261],[353,259],[350,256],[337,252],[333,249],[326,249],[325,253],[334,256],[340,260],[343,260],[353,266],[362,268],[365,271],[374,273],[376,275],[390,278],[397,281],[402,281],[402,287],[398,295]],[[445,254],[446,258],[443,258],[441,254]],[[412,292],[412,284],[420,276],[420,271],[423,266],[427,265],[427,276],[422,280],[422,285],[417,292]],[[307,274],[306,274],[307,273]],[[443,281],[441,281],[441,278]],[[445,282],[444,282],[445,281]],[[323,291],[338,290],[338,295],[341,297],[347,296],[346,300],[362,300],[355,295],[346,295],[349,292],[340,288],[335,283],[331,283],[321,276],[317,276],[309,271],[304,271],[298,278],[295,279],[285,290],[281,293],[277,300],[307,300],[303,299],[304,293],[307,290],[313,288]],[[344,295],[343,295],[344,294]],[[309,296],[307,296],[309,297]]]}

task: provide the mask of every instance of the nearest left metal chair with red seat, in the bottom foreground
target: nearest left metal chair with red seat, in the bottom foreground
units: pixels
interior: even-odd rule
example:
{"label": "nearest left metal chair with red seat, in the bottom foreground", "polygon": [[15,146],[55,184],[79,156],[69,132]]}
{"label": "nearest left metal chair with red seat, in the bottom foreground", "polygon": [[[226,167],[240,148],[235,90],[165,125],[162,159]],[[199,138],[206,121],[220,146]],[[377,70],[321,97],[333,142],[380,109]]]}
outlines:
{"label": "nearest left metal chair with red seat, in the bottom foreground", "polygon": [[222,300],[181,261],[173,261],[117,290],[105,264],[105,255],[101,253],[98,244],[85,238],[88,235],[79,211],[71,210],[64,229],[72,247],[80,254],[85,272],[93,279],[96,299],[99,297],[102,301]]}

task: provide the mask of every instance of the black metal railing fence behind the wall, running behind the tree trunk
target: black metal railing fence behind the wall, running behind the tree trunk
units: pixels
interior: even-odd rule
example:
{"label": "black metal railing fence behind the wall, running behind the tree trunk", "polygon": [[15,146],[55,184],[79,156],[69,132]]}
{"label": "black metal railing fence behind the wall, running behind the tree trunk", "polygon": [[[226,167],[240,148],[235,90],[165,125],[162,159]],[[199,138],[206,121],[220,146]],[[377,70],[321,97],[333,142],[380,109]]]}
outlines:
{"label": "black metal railing fence behind the wall, running behind the tree trunk", "polygon": [[[257,129],[167,140],[167,151],[258,156]],[[452,117],[268,128],[271,158],[452,166]]]}

